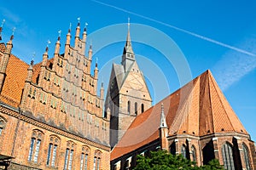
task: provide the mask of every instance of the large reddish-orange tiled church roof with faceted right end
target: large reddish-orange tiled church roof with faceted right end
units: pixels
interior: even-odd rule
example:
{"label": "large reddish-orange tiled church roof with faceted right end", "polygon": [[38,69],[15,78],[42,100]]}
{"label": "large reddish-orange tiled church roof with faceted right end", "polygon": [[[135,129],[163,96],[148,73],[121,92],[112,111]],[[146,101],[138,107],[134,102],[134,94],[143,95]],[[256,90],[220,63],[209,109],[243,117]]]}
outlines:
{"label": "large reddish-orange tiled church roof with faceted right end", "polygon": [[169,136],[190,134],[198,137],[212,133],[248,134],[224,94],[205,71],[183,88],[152,106],[131,123],[113,148],[111,160],[159,139],[161,104],[164,105]]}

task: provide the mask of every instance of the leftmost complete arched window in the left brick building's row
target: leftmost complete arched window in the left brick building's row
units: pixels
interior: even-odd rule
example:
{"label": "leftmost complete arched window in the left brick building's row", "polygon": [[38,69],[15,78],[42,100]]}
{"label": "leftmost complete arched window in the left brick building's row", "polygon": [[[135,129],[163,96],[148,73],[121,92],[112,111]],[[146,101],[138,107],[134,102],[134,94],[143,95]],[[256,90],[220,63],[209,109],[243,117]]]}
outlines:
{"label": "leftmost complete arched window in the left brick building's row", "polygon": [[42,136],[43,136],[43,133],[38,130],[34,130],[32,132],[32,139],[30,142],[30,147],[28,152],[28,161],[38,162],[38,155],[39,155],[40,145],[42,141]]}

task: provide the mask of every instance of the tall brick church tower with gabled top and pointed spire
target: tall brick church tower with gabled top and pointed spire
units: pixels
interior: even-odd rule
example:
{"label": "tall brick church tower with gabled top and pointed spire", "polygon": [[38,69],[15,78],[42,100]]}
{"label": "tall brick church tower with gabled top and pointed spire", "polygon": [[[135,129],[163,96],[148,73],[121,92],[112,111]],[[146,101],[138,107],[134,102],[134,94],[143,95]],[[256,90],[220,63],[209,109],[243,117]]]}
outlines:
{"label": "tall brick church tower with gabled top and pointed spire", "polygon": [[135,117],[152,105],[148,86],[140,71],[131,46],[130,23],[121,65],[114,64],[108,83],[105,111],[111,112],[110,143],[113,147],[122,138]]}

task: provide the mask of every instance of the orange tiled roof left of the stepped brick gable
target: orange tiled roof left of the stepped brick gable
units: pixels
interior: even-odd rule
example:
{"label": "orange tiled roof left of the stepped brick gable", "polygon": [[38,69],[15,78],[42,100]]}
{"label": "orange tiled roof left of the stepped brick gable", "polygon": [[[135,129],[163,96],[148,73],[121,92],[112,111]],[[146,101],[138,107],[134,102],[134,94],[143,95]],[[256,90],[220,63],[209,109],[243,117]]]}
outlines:
{"label": "orange tiled roof left of the stepped brick gable", "polygon": [[[4,51],[4,44],[1,44],[1,51],[2,49]],[[20,60],[13,54],[10,54],[3,90],[1,93],[2,102],[14,107],[18,107],[20,105],[22,89],[25,85],[28,66],[29,65],[24,61]]]}

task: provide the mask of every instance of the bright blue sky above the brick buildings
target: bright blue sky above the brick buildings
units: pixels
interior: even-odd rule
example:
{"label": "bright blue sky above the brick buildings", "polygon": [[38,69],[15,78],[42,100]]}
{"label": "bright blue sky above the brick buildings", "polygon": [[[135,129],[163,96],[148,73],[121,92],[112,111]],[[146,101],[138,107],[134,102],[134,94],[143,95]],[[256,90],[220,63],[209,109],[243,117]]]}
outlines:
{"label": "bright blue sky above the brick buildings", "polygon": [[[220,0],[44,0],[36,3],[24,0],[17,3],[9,0],[1,1],[0,21],[6,20],[3,24],[3,42],[9,40],[13,27],[16,27],[13,54],[29,63],[32,53],[35,52],[34,60],[38,63],[44,54],[47,40],[51,41],[49,56],[52,57],[58,31],[61,30],[63,48],[69,23],[72,23],[74,35],[77,18],[80,17],[81,26],[85,22],[89,24],[89,41],[93,47],[100,46],[107,38],[115,41],[98,48],[94,55],[99,59],[99,68],[102,71],[100,82],[103,81],[107,88],[111,63],[120,62],[127,32],[127,18],[130,17],[131,39],[138,40],[132,42],[132,46],[149,83],[154,103],[183,86],[189,78],[195,78],[210,69],[233,110],[252,139],[256,140],[255,10],[256,2],[253,0],[246,3]],[[117,30],[109,31],[109,28]],[[103,37],[97,37],[106,30]],[[157,31],[155,37],[151,34],[154,31]],[[181,58],[184,57],[184,60],[178,65],[179,69],[181,66],[189,66],[189,74],[186,74],[189,76],[182,81],[180,71],[154,45],[167,47],[169,44],[158,38],[164,35],[169,37],[167,42],[173,41],[170,51],[179,49],[182,52]],[[145,38],[144,42],[139,42],[140,36]],[[151,39],[148,40],[147,37]],[[173,61],[178,58],[175,57]],[[151,74],[152,68],[157,70],[154,74],[162,82],[150,76],[154,75]]]}

